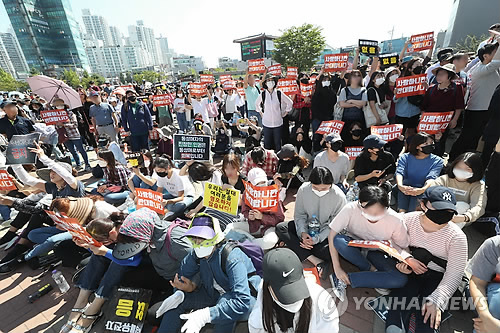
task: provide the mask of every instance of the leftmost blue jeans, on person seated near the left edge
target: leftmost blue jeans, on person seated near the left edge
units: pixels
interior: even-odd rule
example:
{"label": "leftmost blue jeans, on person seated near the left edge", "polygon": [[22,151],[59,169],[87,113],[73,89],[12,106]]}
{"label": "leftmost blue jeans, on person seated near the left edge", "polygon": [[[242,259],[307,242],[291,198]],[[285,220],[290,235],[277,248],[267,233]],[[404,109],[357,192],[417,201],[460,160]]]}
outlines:
{"label": "leftmost blue jeans, on person seated near the left edge", "polygon": [[30,260],[34,257],[43,256],[49,253],[57,243],[70,240],[71,234],[64,230],[59,230],[56,227],[42,227],[31,230],[28,234],[28,239],[36,245],[25,256],[25,260]]}

